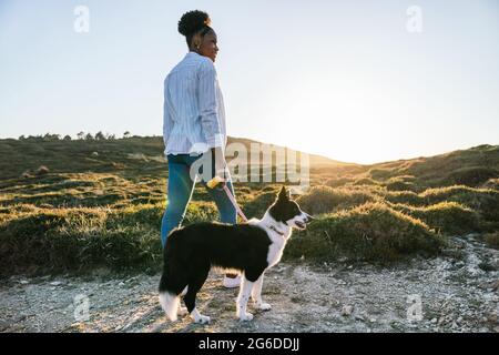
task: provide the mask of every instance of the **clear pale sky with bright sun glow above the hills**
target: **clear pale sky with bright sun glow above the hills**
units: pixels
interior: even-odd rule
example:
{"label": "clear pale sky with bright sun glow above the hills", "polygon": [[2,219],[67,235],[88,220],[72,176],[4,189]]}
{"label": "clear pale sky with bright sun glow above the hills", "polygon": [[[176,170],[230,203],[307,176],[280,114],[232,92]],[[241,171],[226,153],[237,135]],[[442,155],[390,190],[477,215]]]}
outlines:
{"label": "clear pale sky with bright sun glow above the hills", "polygon": [[193,9],[218,34],[230,135],[357,163],[499,144],[496,0],[0,0],[0,138],[161,135]]}

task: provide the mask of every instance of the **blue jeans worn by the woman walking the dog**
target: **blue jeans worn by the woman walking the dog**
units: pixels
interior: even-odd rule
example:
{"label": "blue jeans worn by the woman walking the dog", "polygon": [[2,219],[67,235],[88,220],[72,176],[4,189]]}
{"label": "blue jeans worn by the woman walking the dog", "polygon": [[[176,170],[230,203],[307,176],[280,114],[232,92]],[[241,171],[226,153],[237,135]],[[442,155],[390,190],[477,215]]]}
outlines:
{"label": "blue jeans worn by the woman walking the dog", "polygon": [[[161,242],[163,247],[166,245],[166,239],[170,232],[180,226],[182,223],[187,204],[191,201],[194,191],[195,182],[191,179],[191,165],[202,155],[190,154],[169,154],[169,187],[167,196],[169,204],[163,214],[161,223]],[[201,183],[207,189],[210,195],[215,201],[220,212],[220,220],[223,223],[235,224],[237,222],[237,212],[231,200],[227,197],[224,190],[208,189],[206,181],[201,180]],[[227,187],[234,195],[231,178],[227,181]]]}

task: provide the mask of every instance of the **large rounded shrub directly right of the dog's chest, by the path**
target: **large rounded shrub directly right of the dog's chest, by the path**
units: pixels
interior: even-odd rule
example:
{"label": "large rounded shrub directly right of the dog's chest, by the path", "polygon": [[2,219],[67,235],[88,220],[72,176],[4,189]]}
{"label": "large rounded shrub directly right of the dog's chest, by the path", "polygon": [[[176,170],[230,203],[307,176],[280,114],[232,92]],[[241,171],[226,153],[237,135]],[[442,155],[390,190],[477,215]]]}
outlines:
{"label": "large rounded shrub directly right of the dog's chest, by the path", "polygon": [[313,222],[292,237],[285,255],[393,262],[411,254],[435,255],[444,245],[421,221],[383,203],[366,203]]}

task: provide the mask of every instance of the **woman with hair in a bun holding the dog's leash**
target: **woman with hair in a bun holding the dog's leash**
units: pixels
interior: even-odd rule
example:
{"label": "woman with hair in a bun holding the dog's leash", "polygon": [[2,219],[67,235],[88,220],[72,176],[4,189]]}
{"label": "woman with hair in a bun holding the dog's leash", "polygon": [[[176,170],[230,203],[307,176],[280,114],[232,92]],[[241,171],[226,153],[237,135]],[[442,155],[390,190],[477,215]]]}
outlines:
{"label": "woman with hair in a bun holding the dog's leash", "polygon": [[[169,161],[169,204],[161,225],[163,247],[169,233],[184,219],[196,175],[203,176],[201,181],[206,186],[216,174],[234,194],[224,158],[227,142],[224,102],[214,67],[217,38],[210,23],[208,14],[203,11],[182,16],[179,32],[185,36],[189,53],[164,81],[163,138]],[[200,162],[203,164],[198,171]],[[221,221],[235,224],[236,210],[225,192],[207,191],[216,203]],[[227,274],[224,286],[236,287],[240,281],[237,275]]]}

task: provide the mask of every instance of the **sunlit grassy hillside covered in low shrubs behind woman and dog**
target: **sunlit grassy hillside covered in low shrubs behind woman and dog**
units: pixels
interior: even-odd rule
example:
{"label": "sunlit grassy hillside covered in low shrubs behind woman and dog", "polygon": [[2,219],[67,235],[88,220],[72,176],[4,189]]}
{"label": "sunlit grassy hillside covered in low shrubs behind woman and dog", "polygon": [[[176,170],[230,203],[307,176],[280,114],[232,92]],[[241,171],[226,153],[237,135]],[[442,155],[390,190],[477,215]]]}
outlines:
{"label": "sunlit grassy hillside covered in low shrubs behind woman and dog", "polygon": [[[162,151],[161,138],[0,140],[1,275],[157,270],[167,178]],[[40,165],[48,173],[37,175]],[[436,255],[447,236],[470,232],[497,247],[498,171],[498,145],[373,165],[310,156],[312,187],[298,202],[319,221],[294,234],[285,257],[393,262]],[[235,186],[252,217],[281,184]],[[184,223],[216,219],[197,186]]]}

